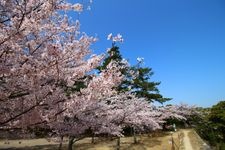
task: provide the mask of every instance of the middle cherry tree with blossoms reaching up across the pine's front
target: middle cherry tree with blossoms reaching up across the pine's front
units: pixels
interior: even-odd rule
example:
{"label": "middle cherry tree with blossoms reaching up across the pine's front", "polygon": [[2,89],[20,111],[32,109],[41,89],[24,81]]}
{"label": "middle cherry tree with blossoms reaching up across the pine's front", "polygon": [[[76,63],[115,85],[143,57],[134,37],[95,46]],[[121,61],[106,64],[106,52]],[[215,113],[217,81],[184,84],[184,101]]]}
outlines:
{"label": "middle cherry tree with blossoms reaching up across the pine's front", "polygon": [[[49,125],[57,135],[69,136],[69,149],[72,149],[75,141],[87,136],[87,130],[95,132],[103,127],[104,123],[109,123],[105,113],[108,105],[105,105],[103,100],[116,94],[112,88],[122,80],[119,68],[115,63],[111,63],[99,75],[92,75],[92,80],[86,88],[72,93],[69,100],[64,102],[62,109],[65,111],[55,120],[49,118]],[[103,113],[104,117],[97,115]]]}

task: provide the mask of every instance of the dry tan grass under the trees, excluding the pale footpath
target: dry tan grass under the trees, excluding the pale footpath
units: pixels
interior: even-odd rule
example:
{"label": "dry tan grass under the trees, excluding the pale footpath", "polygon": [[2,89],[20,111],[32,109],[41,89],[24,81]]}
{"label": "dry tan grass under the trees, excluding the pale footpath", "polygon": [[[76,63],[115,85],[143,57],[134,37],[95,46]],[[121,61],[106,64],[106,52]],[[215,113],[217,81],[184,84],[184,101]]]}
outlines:
{"label": "dry tan grass under the trees, excluding the pale footpath", "polygon": [[[173,133],[173,139],[179,147],[178,133]],[[137,136],[138,144],[133,144],[133,137],[121,138],[121,150],[171,150],[171,134],[161,133],[159,135],[141,135]],[[28,139],[28,140],[6,140],[0,141],[1,150],[55,150],[58,143],[48,141],[47,139]],[[19,143],[21,142],[21,143]],[[116,139],[95,138],[95,144],[91,143],[91,138],[85,138],[74,144],[76,150],[115,150]],[[63,149],[66,149],[67,143],[64,143]]]}

